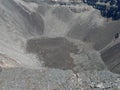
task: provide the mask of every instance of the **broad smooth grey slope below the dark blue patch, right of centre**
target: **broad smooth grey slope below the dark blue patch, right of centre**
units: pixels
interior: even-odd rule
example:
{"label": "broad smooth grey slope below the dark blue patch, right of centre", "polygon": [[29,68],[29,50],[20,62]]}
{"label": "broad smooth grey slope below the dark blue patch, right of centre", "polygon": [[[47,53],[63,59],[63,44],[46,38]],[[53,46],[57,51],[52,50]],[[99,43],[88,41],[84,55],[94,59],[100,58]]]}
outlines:
{"label": "broad smooth grey slope below the dark blue patch, right of centre", "polygon": [[119,24],[120,21],[116,21],[105,23],[102,27],[91,27],[89,22],[86,24],[78,22],[71,28],[68,36],[93,43],[96,50],[101,50],[113,40],[115,33],[120,32]]}

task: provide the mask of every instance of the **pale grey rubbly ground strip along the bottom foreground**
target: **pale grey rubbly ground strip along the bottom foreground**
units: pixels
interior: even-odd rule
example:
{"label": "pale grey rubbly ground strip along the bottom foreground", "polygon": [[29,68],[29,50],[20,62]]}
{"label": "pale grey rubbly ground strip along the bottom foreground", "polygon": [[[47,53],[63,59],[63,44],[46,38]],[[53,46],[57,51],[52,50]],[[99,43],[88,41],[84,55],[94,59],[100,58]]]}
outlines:
{"label": "pale grey rubbly ground strip along the bottom foreground", "polygon": [[1,90],[119,90],[119,75],[109,71],[7,69],[0,73]]}

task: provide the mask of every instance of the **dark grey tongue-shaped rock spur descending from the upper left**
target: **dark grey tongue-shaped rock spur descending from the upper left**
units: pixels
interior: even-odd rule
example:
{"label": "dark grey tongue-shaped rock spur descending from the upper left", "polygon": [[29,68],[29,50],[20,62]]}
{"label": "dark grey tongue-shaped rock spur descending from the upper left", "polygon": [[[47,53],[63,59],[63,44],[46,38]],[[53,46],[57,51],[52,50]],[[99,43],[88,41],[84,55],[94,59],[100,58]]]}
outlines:
{"label": "dark grey tongue-shaped rock spur descending from the upper left", "polygon": [[[29,8],[23,6],[23,5],[19,5],[19,3],[17,4],[14,1],[9,1],[10,3],[12,3],[12,5],[17,8],[17,10],[20,12],[20,14],[23,16],[23,21],[24,24],[26,25],[28,32],[31,35],[41,35],[44,32],[44,20],[41,17],[40,14],[36,13],[36,11],[34,11],[34,9],[30,9],[32,11],[29,10]],[[23,3],[24,2],[20,2]]]}

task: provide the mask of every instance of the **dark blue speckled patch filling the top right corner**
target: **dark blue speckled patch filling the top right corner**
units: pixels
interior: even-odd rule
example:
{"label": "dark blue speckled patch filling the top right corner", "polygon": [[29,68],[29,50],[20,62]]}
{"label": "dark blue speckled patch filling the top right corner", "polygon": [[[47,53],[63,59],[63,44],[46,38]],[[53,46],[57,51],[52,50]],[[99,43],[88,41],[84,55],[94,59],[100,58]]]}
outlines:
{"label": "dark blue speckled patch filling the top right corner", "polygon": [[[83,2],[100,10],[103,17],[112,18],[113,20],[120,19],[119,0],[100,0],[100,4],[97,4],[98,0],[83,0]],[[107,3],[109,3],[110,5],[107,5]]]}

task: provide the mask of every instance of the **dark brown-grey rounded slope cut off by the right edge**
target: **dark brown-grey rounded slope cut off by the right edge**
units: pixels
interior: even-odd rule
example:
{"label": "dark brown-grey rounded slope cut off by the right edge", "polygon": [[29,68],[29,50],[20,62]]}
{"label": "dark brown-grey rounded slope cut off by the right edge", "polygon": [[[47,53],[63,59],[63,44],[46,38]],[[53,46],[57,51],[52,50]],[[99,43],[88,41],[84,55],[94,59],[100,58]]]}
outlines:
{"label": "dark brown-grey rounded slope cut off by the right edge", "polygon": [[101,56],[110,71],[120,74],[120,43],[102,52]]}

